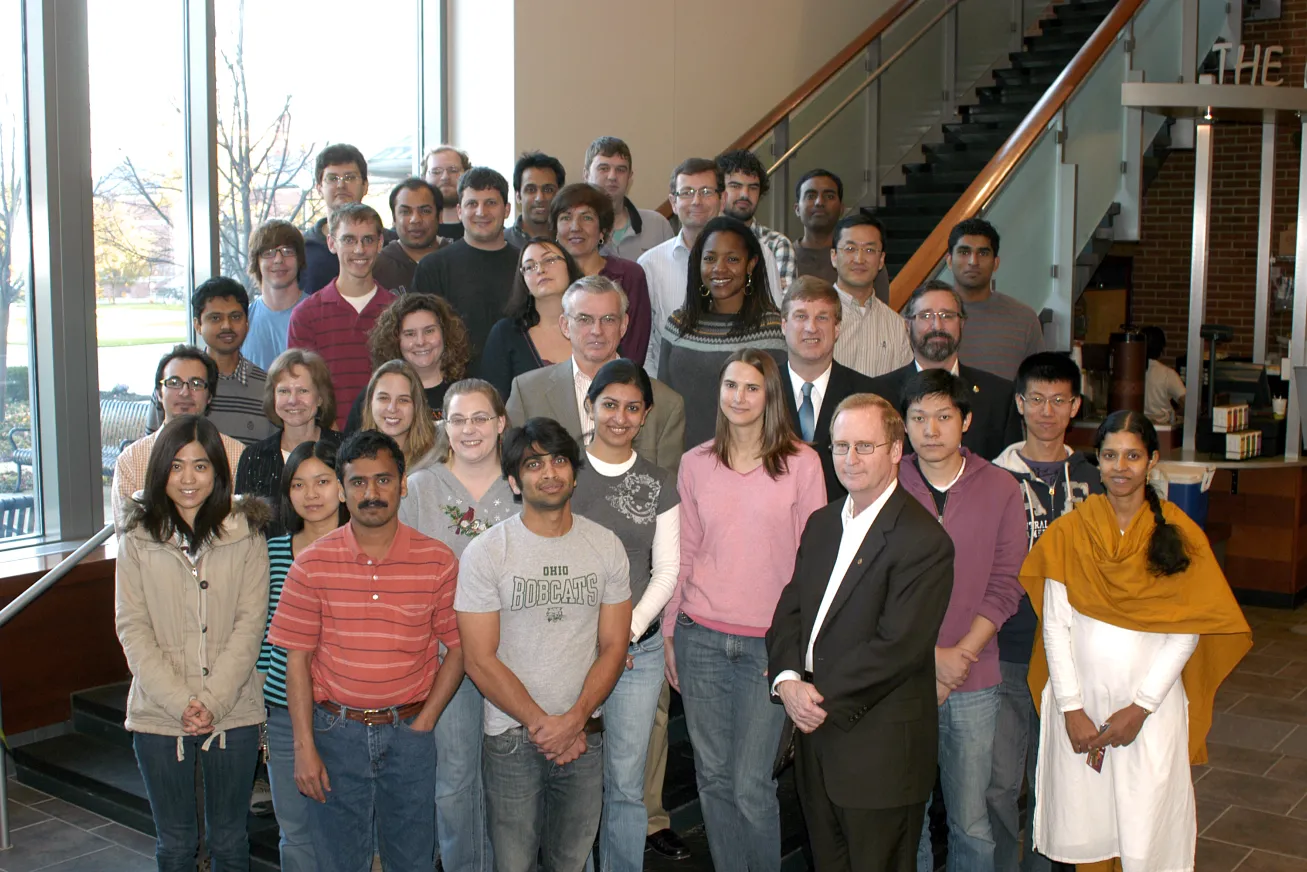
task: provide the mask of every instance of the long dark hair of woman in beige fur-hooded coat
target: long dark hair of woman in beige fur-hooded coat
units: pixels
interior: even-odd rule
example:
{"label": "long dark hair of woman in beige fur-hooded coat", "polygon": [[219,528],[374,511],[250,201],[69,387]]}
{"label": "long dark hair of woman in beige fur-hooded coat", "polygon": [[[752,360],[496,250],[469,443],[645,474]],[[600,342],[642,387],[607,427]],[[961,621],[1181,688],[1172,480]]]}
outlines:
{"label": "long dark hair of woman in beige fur-hooded coat", "polygon": [[[213,467],[213,492],[195,512],[195,528],[182,518],[167,495],[167,482],[173,475],[173,460],[192,442],[204,448]],[[180,535],[192,554],[209,539],[222,537],[222,522],[231,512],[231,467],[218,435],[218,428],[197,414],[179,414],[159,430],[150,460],[145,467],[145,495],[141,499],[140,526],[154,540],[167,541]]]}

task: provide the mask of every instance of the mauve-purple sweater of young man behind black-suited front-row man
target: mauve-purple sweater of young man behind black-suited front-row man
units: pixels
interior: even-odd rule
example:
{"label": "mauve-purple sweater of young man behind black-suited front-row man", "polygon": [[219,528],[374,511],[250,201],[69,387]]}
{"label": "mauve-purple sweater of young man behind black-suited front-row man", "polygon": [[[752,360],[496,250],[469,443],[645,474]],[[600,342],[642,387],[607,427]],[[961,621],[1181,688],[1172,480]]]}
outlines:
{"label": "mauve-purple sweater of young man behind black-suited front-row man", "polygon": [[[1002,629],[1016,613],[1022,590],[1017,573],[1026,560],[1026,512],[1012,476],[984,458],[962,448],[966,465],[949,488],[944,529],[953,540],[953,594],[940,625],[940,647],[953,647],[978,614]],[[899,464],[899,484],[937,515],[931,489],[910,455]],[[996,639],[980,651],[957,693],[984,690],[1000,682]]]}

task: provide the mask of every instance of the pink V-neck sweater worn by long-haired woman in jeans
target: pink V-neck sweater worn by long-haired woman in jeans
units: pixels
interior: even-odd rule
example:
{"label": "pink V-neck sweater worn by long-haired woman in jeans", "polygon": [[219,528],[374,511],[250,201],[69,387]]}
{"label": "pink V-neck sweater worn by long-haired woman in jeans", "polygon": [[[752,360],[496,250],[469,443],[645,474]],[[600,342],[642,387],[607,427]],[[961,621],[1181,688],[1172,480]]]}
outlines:
{"label": "pink V-neck sweater worn by long-haired woman in jeans", "polygon": [[663,635],[685,612],[720,633],[762,637],[793,575],[808,516],[826,505],[821,459],[800,446],[772,480],[762,467],[735,472],[710,444],[681,459],[681,574],[663,611]]}

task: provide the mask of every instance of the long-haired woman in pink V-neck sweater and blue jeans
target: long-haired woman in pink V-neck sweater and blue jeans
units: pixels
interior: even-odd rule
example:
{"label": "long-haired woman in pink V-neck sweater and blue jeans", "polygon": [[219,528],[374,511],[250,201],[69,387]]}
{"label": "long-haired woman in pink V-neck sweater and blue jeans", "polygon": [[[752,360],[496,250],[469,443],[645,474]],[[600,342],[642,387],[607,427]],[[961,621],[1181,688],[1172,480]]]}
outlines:
{"label": "long-haired woman in pink V-neck sweater and blue jeans", "polygon": [[826,503],[817,452],[789,426],[780,369],[744,348],[719,378],[716,435],[681,460],[681,571],[663,612],[667,677],[681,692],[718,872],[780,869],[763,641],[808,516]]}

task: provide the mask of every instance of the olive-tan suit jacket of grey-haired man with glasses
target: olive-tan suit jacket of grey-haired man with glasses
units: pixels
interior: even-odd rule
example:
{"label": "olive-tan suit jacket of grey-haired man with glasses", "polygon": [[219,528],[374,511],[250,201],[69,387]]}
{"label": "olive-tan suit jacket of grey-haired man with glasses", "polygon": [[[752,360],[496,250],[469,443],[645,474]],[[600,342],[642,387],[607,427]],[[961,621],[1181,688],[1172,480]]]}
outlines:
{"label": "olive-tan suit jacket of grey-haired man with glasses", "polygon": [[[685,454],[685,400],[663,382],[650,380],[654,383],[654,409],[635,437],[635,454],[674,473]],[[582,441],[571,358],[512,379],[507,405],[514,426],[528,418],[553,418]]]}

